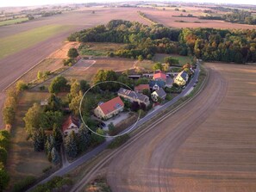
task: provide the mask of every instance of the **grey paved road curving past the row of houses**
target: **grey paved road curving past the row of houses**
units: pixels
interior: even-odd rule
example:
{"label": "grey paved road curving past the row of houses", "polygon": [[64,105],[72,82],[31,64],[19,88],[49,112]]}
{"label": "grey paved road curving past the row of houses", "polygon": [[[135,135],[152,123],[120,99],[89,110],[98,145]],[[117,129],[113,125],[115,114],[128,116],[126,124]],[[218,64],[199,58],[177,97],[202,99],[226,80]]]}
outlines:
{"label": "grey paved road curving past the row of houses", "polygon": [[[193,85],[197,81],[198,76],[199,76],[199,67],[197,67],[197,70],[195,71],[194,77],[191,79],[190,83],[187,85],[187,87],[183,90],[183,92],[181,94],[179,94],[174,99],[172,99],[172,101],[166,102],[165,105],[161,106],[160,108],[153,110],[147,116],[140,119],[140,121],[137,122],[136,126],[128,127],[126,130],[123,131],[123,133],[126,133],[128,131],[136,129],[137,127],[139,127],[143,123],[150,120],[154,115],[158,114],[160,111],[164,110],[165,108],[170,107],[173,103],[177,102],[178,99],[183,97],[187,93],[187,91],[189,91],[190,88],[193,87]],[[105,141],[102,145],[97,146],[97,148],[95,148],[91,152],[86,153],[84,156],[82,156],[81,158],[78,158],[76,161],[72,162],[71,164],[68,164],[65,167],[61,168],[60,170],[57,170],[56,172],[53,173],[53,175],[51,175],[50,177],[47,177],[46,179],[42,180],[41,183],[46,183],[47,181],[49,181],[50,179],[52,179],[53,177],[56,177],[56,176],[63,176],[66,173],[68,173],[69,171],[77,168],[80,164],[84,164],[84,162],[86,162],[86,161],[90,160],[91,158],[97,156],[97,154],[99,152],[102,152],[109,145],[109,143],[111,141],[112,141],[112,139],[107,139],[107,141]]]}

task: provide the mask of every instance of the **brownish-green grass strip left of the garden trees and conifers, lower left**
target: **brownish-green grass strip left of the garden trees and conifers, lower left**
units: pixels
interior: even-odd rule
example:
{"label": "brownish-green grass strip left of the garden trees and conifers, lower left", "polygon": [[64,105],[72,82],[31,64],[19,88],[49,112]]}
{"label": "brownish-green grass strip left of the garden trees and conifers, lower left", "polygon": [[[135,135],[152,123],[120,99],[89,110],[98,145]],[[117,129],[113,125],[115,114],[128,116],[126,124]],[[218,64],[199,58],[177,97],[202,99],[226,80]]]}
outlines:
{"label": "brownish-green grass strip left of the garden trees and conifers, lower left", "polygon": [[11,177],[10,185],[26,176],[41,177],[42,170],[51,165],[45,152],[34,152],[32,142],[27,141],[23,117],[34,102],[40,102],[49,96],[42,92],[23,92],[19,97],[16,123],[11,131],[7,169]]}

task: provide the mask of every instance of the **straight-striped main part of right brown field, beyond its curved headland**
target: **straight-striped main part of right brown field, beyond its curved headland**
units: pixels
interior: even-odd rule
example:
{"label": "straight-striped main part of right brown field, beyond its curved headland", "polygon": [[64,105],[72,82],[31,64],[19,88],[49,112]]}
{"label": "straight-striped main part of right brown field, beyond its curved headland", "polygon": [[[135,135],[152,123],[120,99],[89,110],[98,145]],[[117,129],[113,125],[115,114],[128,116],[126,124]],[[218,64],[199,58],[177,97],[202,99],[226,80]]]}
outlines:
{"label": "straight-striped main part of right brown field, beyond its curved headland", "polygon": [[[256,187],[256,66],[207,63],[228,79],[221,105],[178,149],[174,188],[253,191]],[[179,177],[179,176],[183,177]]]}

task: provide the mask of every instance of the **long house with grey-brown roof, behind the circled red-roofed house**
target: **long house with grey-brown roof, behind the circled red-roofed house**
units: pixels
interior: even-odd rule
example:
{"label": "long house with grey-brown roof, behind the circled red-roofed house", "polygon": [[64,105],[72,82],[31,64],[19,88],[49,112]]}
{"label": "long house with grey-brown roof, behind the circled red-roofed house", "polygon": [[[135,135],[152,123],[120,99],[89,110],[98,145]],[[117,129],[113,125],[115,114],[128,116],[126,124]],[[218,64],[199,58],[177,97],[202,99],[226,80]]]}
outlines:
{"label": "long house with grey-brown roof, behind the circled red-roofed house", "polygon": [[117,94],[118,96],[122,96],[122,98],[124,98],[128,102],[138,102],[139,104],[144,103],[146,106],[150,104],[148,96],[145,96],[141,93],[136,93],[133,90],[126,90],[126,89],[120,88]]}

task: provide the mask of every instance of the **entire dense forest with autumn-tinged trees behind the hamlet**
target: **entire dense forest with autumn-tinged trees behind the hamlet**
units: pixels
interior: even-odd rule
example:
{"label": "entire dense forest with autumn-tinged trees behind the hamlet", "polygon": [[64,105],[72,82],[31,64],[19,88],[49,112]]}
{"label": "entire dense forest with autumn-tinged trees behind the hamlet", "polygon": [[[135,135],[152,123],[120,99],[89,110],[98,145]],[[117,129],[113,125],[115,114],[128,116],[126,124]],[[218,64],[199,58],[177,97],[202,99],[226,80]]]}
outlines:
{"label": "entire dense forest with autumn-tinged trees behind the hamlet", "polygon": [[[109,53],[131,59],[152,59],[155,53],[192,55],[205,61],[256,62],[255,29],[166,28],[139,22],[110,21],[71,34],[70,41],[115,42],[127,46]],[[82,44],[83,46],[83,44]]]}

